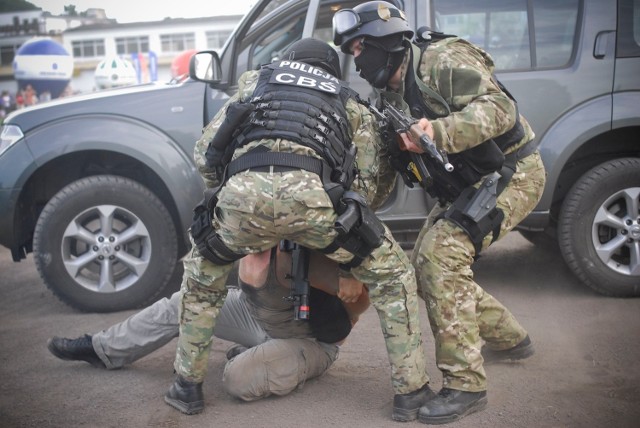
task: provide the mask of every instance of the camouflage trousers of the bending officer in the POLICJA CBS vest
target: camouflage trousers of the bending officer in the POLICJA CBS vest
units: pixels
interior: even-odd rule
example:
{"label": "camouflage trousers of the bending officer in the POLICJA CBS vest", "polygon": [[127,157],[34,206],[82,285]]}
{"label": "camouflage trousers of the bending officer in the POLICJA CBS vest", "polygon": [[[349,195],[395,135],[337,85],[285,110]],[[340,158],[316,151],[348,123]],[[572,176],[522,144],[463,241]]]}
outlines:
{"label": "camouflage trousers of the bending officer in the POLICJA CBS vest", "polygon": [[[281,239],[313,249],[325,248],[336,237],[335,219],[333,205],[317,175],[247,171],[232,176],[220,190],[213,225],[231,250],[249,254],[272,248]],[[353,257],[342,249],[327,256],[338,263]],[[184,268],[174,367],[185,378],[201,382],[233,265],[215,265],[194,248],[184,259]],[[389,230],[384,243],[351,273],[368,286],[378,313],[395,393],[420,388],[429,378],[415,273]]]}

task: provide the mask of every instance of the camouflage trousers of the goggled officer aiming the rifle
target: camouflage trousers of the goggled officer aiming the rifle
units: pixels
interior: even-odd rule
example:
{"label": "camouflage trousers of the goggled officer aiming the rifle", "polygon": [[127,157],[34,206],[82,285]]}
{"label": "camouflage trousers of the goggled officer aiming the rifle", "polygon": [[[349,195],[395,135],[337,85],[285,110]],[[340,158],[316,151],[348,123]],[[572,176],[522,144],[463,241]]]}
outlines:
{"label": "camouflage trousers of the goggled officer aiming the rifle", "polygon": [[[536,206],[545,183],[538,152],[520,160],[516,173],[499,195],[504,212],[502,238]],[[509,349],[527,335],[513,314],[473,279],[475,249],[468,235],[452,222],[436,220],[447,207],[436,206],[422,228],[412,263],[420,295],[425,300],[435,338],[436,363],[443,386],[462,391],[484,391],[487,378],[481,348]],[[491,244],[493,234],[483,241]]]}

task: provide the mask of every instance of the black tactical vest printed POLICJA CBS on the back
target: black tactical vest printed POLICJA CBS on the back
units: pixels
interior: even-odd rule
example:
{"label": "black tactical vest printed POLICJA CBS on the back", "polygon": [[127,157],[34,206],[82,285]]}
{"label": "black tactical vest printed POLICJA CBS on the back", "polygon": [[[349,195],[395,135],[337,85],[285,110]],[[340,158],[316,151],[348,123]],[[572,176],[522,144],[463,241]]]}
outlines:
{"label": "black tactical vest printed POLICJA CBS on the back", "polygon": [[[328,178],[347,189],[356,175],[356,148],[346,112],[349,98],[355,99],[355,91],[320,68],[288,60],[266,65],[250,100],[252,111],[235,133],[230,151],[261,139],[293,141],[313,149],[328,164],[330,174],[321,174],[323,182]],[[285,155],[261,156],[263,166]],[[246,165],[239,168],[248,169]],[[238,167],[231,172],[238,172]]]}

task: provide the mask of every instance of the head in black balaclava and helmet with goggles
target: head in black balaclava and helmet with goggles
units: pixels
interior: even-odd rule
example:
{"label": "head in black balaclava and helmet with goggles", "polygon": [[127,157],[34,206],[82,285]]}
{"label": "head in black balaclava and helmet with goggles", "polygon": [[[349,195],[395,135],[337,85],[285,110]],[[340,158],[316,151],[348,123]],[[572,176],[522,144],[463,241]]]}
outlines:
{"label": "head in black balaclava and helmet with goggles", "polygon": [[384,88],[404,59],[413,30],[404,12],[386,1],[370,1],[333,16],[333,42],[353,54],[360,76]]}

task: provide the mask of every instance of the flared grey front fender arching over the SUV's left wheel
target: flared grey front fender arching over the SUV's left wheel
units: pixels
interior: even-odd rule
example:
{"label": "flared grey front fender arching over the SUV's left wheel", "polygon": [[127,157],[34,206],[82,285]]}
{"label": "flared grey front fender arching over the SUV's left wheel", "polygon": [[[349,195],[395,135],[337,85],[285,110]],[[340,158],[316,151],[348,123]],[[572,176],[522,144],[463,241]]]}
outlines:
{"label": "flared grey front fender arching over the SUV's left wheel", "polygon": [[[74,129],[82,132],[74,135]],[[33,250],[35,222],[53,195],[75,180],[112,174],[136,180],[160,198],[176,230],[184,232],[178,242],[180,255],[186,253],[186,225],[203,183],[191,158],[167,135],[131,120],[77,118],[29,134],[27,144],[37,168],[25,178],[15,220],[17,241],[27,252]]]}

